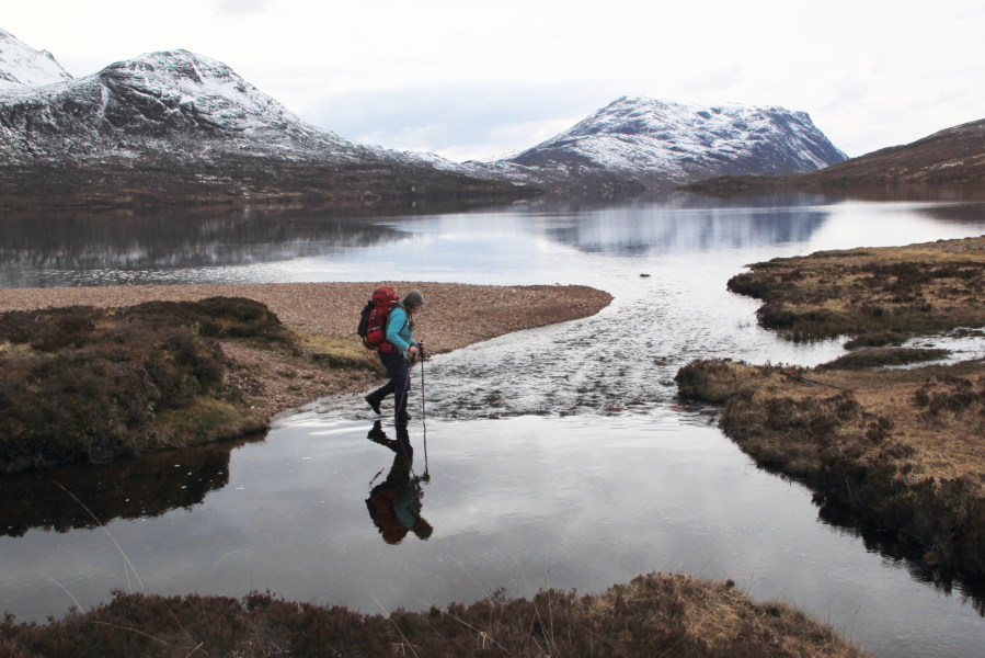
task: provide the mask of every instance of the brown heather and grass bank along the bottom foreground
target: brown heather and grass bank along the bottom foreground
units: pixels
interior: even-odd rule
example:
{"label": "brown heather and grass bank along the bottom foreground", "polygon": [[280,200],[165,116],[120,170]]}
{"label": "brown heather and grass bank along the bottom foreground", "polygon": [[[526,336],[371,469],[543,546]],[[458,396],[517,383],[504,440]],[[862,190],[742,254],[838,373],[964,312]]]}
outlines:
{"label": "brown heather and grass bank along the bottom foreground", "polygon": [[0,622],[0,656],[861,657],[827,626],[732,583],[641,576],[599,595],[497,593],[468,608],[367,615],[253,592],[112,602],[45,626]]}

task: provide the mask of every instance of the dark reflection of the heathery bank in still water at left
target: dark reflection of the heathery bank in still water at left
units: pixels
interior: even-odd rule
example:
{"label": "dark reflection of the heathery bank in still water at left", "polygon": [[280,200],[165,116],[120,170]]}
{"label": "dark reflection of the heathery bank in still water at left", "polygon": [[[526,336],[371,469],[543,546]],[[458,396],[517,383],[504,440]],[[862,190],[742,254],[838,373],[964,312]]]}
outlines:
{"label": "dark reflection of the heathery bank in still water at left", "polygon": [[61,466],[0,477],[0,536],[20,537],[33,529],[65,533],[96,527],[95,519],[105,525],[115,519],[190,510],[229,484],[230,453],[257,441],[263,441],[263,435],[103,466]]}

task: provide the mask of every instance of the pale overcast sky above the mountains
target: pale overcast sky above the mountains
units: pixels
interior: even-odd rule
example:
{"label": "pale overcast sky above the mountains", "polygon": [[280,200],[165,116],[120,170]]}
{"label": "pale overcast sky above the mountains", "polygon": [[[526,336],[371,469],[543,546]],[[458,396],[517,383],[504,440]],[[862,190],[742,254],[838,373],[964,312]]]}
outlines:
{"label": "pale overcast sky above the mountains", "polygon": [[49,0],[0,21],[76,77],[186,48],[343,137],[454,160],[621,95],[803,110],[849,156],[985,118],[983,0]]}

